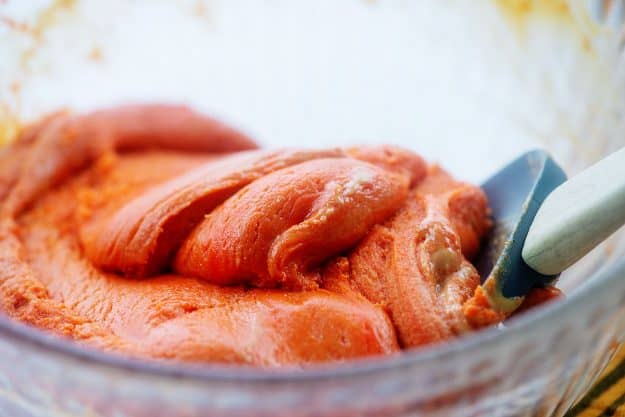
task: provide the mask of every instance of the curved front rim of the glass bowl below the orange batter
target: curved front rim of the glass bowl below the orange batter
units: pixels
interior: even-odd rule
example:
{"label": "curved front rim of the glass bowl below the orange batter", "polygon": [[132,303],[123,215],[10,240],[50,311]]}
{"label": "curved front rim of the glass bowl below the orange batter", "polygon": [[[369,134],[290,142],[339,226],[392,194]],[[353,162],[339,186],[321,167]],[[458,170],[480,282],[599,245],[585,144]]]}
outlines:
{"label": "curved front rim of the glass bowl below the orange batter", "polygon": [[[601,268],[587,279],[581,288],[576,289],[563,300],[549,303],[509,320],[505,328],[490,327],[439,344],[402,351],[398,355],[377,356],[365,359],[348,360],[341,363],[311,365],[305,368],[267,369],[252,366],[180,363],[125,357],[121,354],[105,352],[71,339],[42,331],[20,323],[8,316],[0,315],[0,335],[5,340],[17,340],[35,349],[66,356],[67,359],[86,365],[103,366],[121,372],[133,372],[142,376],[194,380],[198,382],[246,382],[246,383],[293,383],[337,378],[354,378],[392,369],[426,364],[457,354],[469,355],[471,350],[488,349],[503,339],[512,340],[524,332],[531,331],[536,324],[547,325],[558,318],[573,314],[579,305],[585,305],[596,297],[599,290],[607,292],[618,284],[625,275],[625,259]],[[8,336],[8,338],[7,338]]]}

